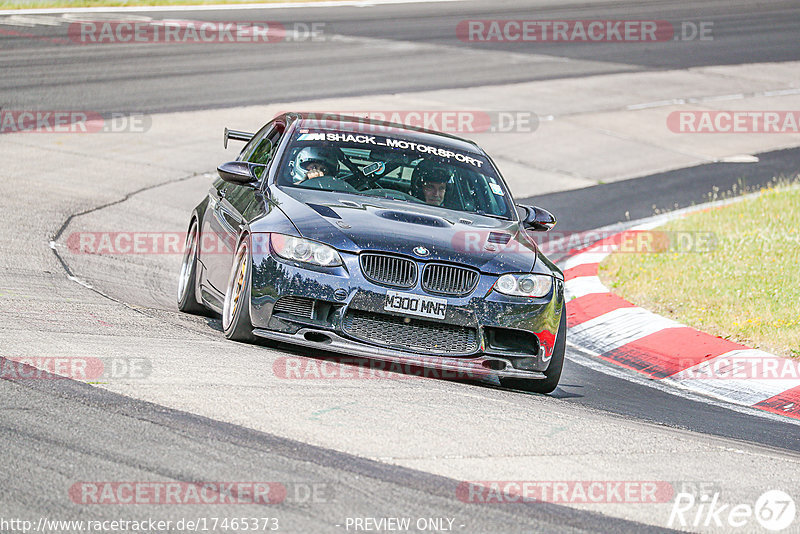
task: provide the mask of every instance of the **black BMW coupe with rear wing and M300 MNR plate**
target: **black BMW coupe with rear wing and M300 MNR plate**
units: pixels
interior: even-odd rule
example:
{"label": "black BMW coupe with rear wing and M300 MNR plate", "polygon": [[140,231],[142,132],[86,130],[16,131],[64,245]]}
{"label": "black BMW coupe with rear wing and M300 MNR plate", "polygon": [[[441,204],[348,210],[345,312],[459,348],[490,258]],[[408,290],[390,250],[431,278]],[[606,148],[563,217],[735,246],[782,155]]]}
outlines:
{"label": "black BMW coupe with rear wing and M300 MNR plate", "polygon": [[225,335],[549,393],[566,346],[564,278],[475,143],[345,116],[285,113],[218,168],[194,209],[178,307]]}

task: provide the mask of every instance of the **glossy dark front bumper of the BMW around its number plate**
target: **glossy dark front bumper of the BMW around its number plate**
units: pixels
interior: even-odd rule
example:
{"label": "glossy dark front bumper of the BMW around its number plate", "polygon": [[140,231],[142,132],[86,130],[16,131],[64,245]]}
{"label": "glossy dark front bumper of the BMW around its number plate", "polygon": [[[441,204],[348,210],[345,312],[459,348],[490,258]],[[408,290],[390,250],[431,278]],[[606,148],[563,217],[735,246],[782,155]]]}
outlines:
{"label": "glossy dark front bumper of the BMW around its number plate", "polygon": [[[341,267],[314,268],[277,259],[269,251],[254,255],[250,301],[253,333],[320,350],[435,367],[477,377],[545,378],[543,372],[550,364],[563,313],[560,280],[555,281],[546,297],[528,299],[493,292],[491,288],[497,276],[482,274],[469,296],[448,297],[445,318],[435,321],[474,332],[476,342],[467,351],[452,351],[447,346],[425,350],[364,339],[348,331],[345,319],[351,311],[385,319],[400,317],[406,322],[433,321],[384,310],[386,293],[393,289],[367,280],[361,273],[357,255],[342,253],[341,256],[344,261]],[[419,284],[401,291],[429,296]],[[319,304],[318,309],[323,311],[309,317],[273,313],[276,301],[286,296],[314,299]],[[392,321],[397,323],[396,319]],[[518,333],[516,337],[533,341],[522,348],[509,348],[496,343],[498,332],[504,336],[510,333],[511,337]],[[429,347],[430,343],[425,346]]]}

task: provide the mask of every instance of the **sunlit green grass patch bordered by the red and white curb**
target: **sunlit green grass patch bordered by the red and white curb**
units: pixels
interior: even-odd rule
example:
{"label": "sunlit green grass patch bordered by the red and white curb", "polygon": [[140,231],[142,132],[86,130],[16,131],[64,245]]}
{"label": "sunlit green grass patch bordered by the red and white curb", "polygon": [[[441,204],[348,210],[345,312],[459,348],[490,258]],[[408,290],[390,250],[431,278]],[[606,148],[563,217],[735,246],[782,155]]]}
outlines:
{"label": "sunlit green grass patch bordered by the red and white curb", "polygon": [[614,253],[600,265],[607,287],[704,332],[800,357],[800,189],[765,189],[658,230],[713,232],[716,247]]}

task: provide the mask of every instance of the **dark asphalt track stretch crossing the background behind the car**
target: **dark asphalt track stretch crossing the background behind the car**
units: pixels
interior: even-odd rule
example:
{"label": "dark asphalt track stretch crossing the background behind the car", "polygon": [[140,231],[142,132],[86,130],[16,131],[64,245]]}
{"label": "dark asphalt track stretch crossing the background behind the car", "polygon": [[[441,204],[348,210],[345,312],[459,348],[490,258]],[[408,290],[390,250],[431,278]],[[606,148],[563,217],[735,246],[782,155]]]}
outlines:
{"label": "dark asphalt track stretch crossing the background behind the car", "polygon": [[[464,46],[453,29],[465,19],[647,19],[711,21],[713,41],[480,43]],[[473,87],[613,72],[800,59],[800,13],[791,1],[457,2],[380,8],[136,13],[153,18],[324,23],[319,42],[197,47],[53,46],[0,34],[7,109],[72,109],[93,95],[97,111],[154,113],[371,93]],[[9,28],[10,29],[10,28]],[[64,26],[15,27],[41,38]],[[367,46],[362,46],[367,44]],[[370,46],[371,45],[371,46]],[[43,53],[43,50],[47,50]],[[562,61],[554,61],[553,58]],[[563,61],[563,60],[569,61]],[[78,108],[80,109],[80,108]]]}

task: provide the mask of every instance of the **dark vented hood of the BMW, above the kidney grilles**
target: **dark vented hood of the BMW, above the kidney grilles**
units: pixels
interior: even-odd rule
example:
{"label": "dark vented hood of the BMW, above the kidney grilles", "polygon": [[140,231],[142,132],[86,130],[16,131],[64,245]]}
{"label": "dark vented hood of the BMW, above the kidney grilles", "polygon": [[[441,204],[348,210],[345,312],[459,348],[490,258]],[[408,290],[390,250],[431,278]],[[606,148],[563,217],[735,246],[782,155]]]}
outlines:
{"label": "dark vented hood of the BMW, above the kidney grilles", "polygon": [[[342,251],[403,254],[492,274],[530,272],[536,263],[536,245],[516,221],[331,191],[273,187],[271,197],[300,235]],[[253,230],[269,231],[257,223]]]}

